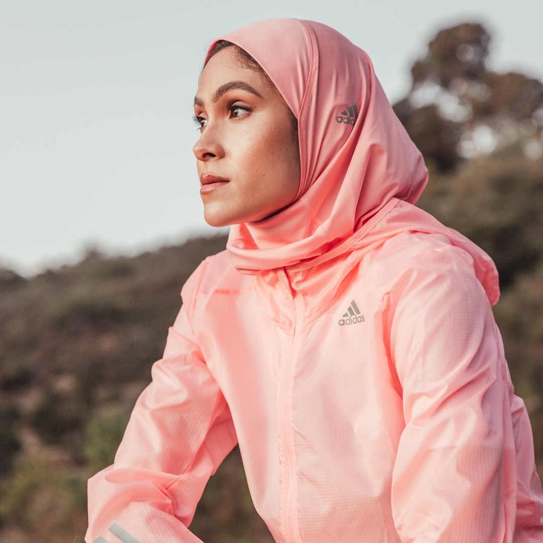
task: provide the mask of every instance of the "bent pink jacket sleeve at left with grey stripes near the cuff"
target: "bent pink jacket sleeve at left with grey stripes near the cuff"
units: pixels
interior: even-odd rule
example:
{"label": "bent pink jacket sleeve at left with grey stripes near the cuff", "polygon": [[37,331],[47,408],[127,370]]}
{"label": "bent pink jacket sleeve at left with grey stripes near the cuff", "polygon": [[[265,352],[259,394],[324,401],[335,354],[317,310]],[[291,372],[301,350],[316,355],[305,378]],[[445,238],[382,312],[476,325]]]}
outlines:
{"label": "bent pink jacket sleeve at left with grey stripes near the cuff", "polygon": [[89,480],[87,543],[200,541],[187,527],[207,480],[237,440],[185,307],[153,365],[153,381],[136,402],[115,462]]}

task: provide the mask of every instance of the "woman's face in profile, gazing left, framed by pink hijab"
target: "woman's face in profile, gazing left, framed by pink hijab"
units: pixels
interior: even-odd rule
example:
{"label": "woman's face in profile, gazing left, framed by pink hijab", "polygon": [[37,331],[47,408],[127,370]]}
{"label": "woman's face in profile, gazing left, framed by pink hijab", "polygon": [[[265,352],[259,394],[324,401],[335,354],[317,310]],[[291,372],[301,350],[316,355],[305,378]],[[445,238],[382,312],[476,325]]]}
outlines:
{"label": "woman's face in profile, gazing left, framed by pink hijab", "polygon": [[235,50],[214,54],[194,98],[194,146],[204,217],[212,226],[254,222],[290,204],[300,184],[298,136],[275,86]]}

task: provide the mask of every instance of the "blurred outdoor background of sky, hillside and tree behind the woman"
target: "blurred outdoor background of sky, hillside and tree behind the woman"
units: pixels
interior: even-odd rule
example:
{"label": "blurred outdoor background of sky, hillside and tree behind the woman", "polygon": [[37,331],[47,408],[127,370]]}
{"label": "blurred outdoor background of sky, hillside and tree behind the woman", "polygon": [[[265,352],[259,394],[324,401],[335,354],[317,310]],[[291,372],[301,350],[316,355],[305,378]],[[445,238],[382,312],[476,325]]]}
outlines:
{"label": "blurred outdoor background of sky, hillside and tree behind the woman", "polygon": [[[425,155],[419,205],[494,258],[495,316],[543,475],[543,5],[0,1],[0,543],[83,542],[182,284],[222,250],[202,218],[192,100],[206,46],[267,17],[367,50]],[[237,450],[192,529],[267,542]]]}

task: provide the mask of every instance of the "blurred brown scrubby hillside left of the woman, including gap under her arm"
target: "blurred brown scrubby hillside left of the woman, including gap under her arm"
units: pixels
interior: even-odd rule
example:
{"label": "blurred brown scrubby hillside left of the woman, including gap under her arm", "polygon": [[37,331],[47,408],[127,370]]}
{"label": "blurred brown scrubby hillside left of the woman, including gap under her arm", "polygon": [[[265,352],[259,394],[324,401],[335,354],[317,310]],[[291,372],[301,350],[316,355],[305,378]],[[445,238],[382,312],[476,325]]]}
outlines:
{"label": "blurred brown scrubby hillside left of the woman, including gap under her arm", "polygon": [[[83,541],[86,479],[112,461],[181,286],[225,243],[192,239],[134,258],[93,251],[28,280],[0,271],[0,541]],[[270,541],[237,450],[193,529],[206,541]]]}

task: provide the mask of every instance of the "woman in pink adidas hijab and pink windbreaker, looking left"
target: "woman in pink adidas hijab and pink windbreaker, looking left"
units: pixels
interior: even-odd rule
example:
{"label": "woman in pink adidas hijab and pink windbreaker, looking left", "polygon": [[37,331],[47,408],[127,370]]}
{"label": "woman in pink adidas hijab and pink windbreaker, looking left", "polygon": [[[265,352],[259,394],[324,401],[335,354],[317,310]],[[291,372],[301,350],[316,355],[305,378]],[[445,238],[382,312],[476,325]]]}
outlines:
{"label": "woman in pink adidas hijab and pink windbreaker, looking left", "polygon": [[322,24],[253,24],[210,48],[195,119],[227,250],[182,290],[115,464],[90,480],[86,541],[198,541],[236,443],[276,541],[543,541],[496,269],[413,206],[427,171],[365,53]]}

